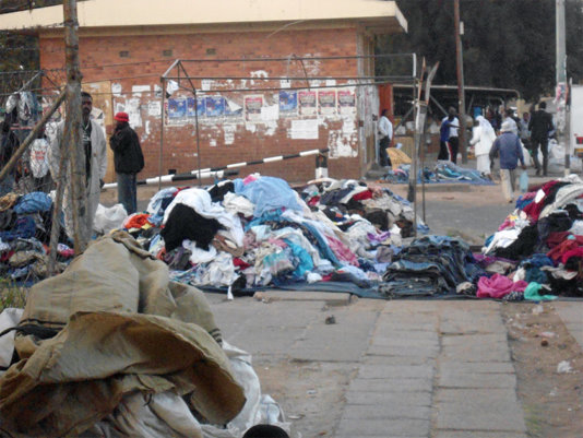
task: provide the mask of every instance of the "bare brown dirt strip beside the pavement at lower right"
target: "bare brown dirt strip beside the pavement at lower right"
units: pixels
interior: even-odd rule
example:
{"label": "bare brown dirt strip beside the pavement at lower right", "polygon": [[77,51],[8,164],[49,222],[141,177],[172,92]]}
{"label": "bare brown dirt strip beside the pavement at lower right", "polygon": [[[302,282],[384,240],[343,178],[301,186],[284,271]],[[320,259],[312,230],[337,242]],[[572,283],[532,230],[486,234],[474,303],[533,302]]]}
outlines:
{"label": "bare brown dirt strip beside the pavement at lower right", "polygon": [[583,437],[583,351],[552,304],[509,303],[502,317],[528,436]]}

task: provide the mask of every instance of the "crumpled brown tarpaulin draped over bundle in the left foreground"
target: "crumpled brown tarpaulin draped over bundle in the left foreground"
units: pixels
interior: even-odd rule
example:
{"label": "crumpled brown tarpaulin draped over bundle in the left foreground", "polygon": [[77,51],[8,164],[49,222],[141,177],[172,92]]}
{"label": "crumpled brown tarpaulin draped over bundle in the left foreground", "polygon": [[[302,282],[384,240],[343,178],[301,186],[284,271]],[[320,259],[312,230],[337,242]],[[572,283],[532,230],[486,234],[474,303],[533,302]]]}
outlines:
{"label": "crumpled brown tarpaulin draped over bundle in the left foreground", "polygon": [[16,336],[22,359],[0,378],[4,428],[78,435],[134,391],[188,394],[212,424],[245,404],[204,295],[168,282],[166,264],[126,233],[95,241],[35,285],[22,323],[62,330],[44,341]]}

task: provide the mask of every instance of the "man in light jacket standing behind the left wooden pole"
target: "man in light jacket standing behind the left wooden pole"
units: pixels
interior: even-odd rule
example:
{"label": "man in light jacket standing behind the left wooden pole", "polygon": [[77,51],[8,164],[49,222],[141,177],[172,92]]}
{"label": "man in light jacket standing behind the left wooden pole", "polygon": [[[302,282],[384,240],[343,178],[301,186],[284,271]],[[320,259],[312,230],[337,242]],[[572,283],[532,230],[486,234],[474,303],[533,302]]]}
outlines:
{"label": "man in light jacket standing behind the left wooden pole", "polygon": [[[107,170],[107,145],[105,141],[105,134],[102,127],[91,118],[91,111],[93,109],[93,97],[86,92],[81,92],[81,107],[82,107],[82,120],[81,127],[82,132],[82,147],[83,154],[82,159],[85,164],[85,190],[86,190],[86,224],[82,224],[82,229],[84,233],[88,233],[88,236],[85,236],[86,239],[91,237],[93,233],[93,221],[95,218],[95,213],[97,211],[97,205],[99,204],[99,194],[102,192],[102,186],[105,178],[105,173]],[[59,123],[57,127],[57,132],[53,138],[51,145],[51,159],[50,159],[50,173],[52,179],[58,181],[61,177],[60,175],[60,158],[62,154],[62,139],[63,139],[64,121]],[[62,175],[63,181],[71,181],[70,178],[71,169],[70,165],[67,166],[64,175]],[[67,185],[64,187],[64,197],[63,197],[63,211],[64,211],[64,224],[67,234],[69,237],[73,235],[73,214],[72,214],[72,202],[71,202],[71,187]]]}

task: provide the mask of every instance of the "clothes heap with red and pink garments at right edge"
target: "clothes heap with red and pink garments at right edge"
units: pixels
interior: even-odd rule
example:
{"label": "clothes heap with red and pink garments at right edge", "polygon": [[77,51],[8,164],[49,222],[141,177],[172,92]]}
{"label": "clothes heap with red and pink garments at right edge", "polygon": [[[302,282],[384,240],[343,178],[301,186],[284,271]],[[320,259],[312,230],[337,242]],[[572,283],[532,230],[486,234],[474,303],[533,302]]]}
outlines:
{"label": "clothes heap with red and pink garments at right edge", "polygon": [[522,299],[583,296],[583,181],[575,175],[523,194],[488,237],[478,296]]}

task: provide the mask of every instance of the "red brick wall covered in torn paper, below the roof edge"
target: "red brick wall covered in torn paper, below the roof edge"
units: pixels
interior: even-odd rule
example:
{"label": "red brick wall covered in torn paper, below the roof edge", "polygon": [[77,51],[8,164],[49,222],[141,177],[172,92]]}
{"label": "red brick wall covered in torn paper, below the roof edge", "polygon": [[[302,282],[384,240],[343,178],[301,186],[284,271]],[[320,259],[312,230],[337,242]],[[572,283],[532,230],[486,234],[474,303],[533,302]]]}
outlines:
{"label": "red brick wall covered in torn paper, below the roof edge", "polygon": [[[95,93],[103,90],[103,82],[110,85],[111,95],[108,113],[126,110],[130,113],[130,125],[139,133],[146,166],[139,178],[158,175],[160,150],[160,117],[158,115],[162,96],[159,78],[174,59],[202,59],[203,62],[188,62],[185,67],[191,76],[355,76],[355,59],[310,60],[304,63],[290,61],[221,62],[216,59],[233,58],[277,58],[290,57],[334,57],[356,55],[357,32],[355,28],[318,29],[297,32],[246,32],[206,33],[187,35],[122,35],[83,36],[80,38],[80,56],[84,90]],[[166,52],[165,52],[166,50]],[[120,57],[120,52],[123,57]],[[62,39],[44,37],[40,40],[40,63],[43,69],[63,66]],[[176,70],[175,70],[176,72]],[[183,76],[183,73],[180,72]],[[99,86],[94,86],[99,83]],[[168,118],[164,127],[163,174],[168,169],[178,173],[201,168],[218,167],[230,163],[259,159],[263,157],[293,154],[311,149],[331,147],[329,175],[334,178],[358,178],[360,176],[360,142],[358,140],[358,115],[352,108],[348,113],[332,115],[285,116],[278,113],[278,92],[247,91],[234,93],[234,88],[279,87],[279,80],[216,80],[210,86],[221,92],[201,92],[200,80],[193,81],[199,97],[223,96],[225,104],[240,114],[228,117],[206,117],[199,119],[199,145],[194,128],[194,117]],[[336,80],[336,85],[346,80]],[[310,82],[311,86],[333,85],[334,82]],[[108,85],[108,86],[109,86]],[[188,82],[181,81],[187,86]],[[306,81],[291,81],[293,87],[305,86]],[[325,88],[335,90],[335,88]],[[338,87],[337,90],[348,90]],[[358,87],[350,90],[358,93]],[[318,88],[314,88],[318,92]],[[260,120],[249,120],[245,109],[246,96],[260,95],[263,111],[255,115]],[[171,96],[172,105],[191,97],[186,90]],[[94,98],[95,100],[95,98]],[[168,100],[166,100],[166,106]],[[343,111],[345,111],[343,109]],[[106,125],[111,114],[106,115]],[[298,121],[307,121],[312,128],[317,125],[317,139],[307,139]],[[291,129],[291,128],[296,129]],[[200,154],[199,154],[200,153]],[[240,169],[239,176],[259,171],[262,175],[278,176],[289,182],[306,181],[314,176],[314,156],[287,159]]]}

